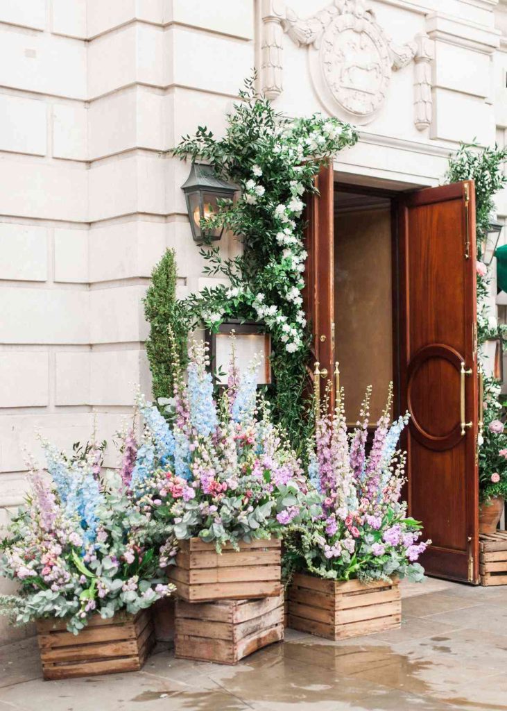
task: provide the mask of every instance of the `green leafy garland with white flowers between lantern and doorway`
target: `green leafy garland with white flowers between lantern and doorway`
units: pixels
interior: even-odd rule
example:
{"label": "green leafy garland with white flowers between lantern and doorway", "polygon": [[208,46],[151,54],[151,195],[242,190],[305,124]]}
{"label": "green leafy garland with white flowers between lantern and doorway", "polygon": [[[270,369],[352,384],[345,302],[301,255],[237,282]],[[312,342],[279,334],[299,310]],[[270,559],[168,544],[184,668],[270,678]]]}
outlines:
{"label": "green leafy garland with white flowers between lantern and doorway", "polygon": [[314,115],[289,119],[245,82],[241,102],[227,117],[222,139],[199,127],[173,151],[181,159],[207,161],[241,188],[234,203],[202,223],[224,226],[243,242],[240,257],[224,260],[218,247],[203,247],[204,273],[227,277],[229,287],[205,288],[182,301],[189,330],[204,322],[217,331],[226,319],[256,321],[271,333],[275,387],[273,411],[301,452],[307,432],[305,385],[310,329],[302,310],[305,260],[302,197],[315,192],[320,166],[357,141],[355,130],[337,119]]}

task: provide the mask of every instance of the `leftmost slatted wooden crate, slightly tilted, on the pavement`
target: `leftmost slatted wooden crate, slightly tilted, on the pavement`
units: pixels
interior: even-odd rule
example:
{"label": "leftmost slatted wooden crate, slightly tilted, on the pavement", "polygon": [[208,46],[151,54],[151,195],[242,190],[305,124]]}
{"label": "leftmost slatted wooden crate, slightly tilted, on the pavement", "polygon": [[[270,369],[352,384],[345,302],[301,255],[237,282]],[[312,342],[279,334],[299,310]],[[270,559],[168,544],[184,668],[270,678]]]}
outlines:
{"label": "leftmost slatted wooden crate, slightly tilted, on the pavement", "polygon": [[155,641],[151,610],[107,620],[94,616],[77,635],[67,632],[66,624],[60,619],[37,622],[45,679],[137,671]]}

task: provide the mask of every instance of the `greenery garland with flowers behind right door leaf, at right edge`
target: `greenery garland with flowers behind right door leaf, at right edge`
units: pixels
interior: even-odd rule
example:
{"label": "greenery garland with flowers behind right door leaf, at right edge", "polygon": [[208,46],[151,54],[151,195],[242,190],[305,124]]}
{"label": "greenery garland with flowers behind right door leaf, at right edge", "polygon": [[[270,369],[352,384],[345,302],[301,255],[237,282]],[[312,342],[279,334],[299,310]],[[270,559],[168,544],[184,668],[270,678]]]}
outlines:
{"label": "greenery garland with flowers behind right door leaf, at right edge", "polygon": [[[477,144],[462,144],[449,161],[446,180],[475,182],[477,227],[477,341],[479,365],[484,364],[484,344],[492,336],[505,339],[505,327],[494,328],[489,319],[489,282],[486,265],[481,262],[490,215],[494,210],[494,196],[507,184],[503,166],[507,149],[481,149]],[[507,434],[498,431],[505,419],[498,400],[501,383],[489,376],[484,378],[484,432],[479,435],[479,491],[481,501],[491,496],[507,496]],[[503,452],[503,454],[500,454]],[[496,481],[498,479],[498,481]]]}

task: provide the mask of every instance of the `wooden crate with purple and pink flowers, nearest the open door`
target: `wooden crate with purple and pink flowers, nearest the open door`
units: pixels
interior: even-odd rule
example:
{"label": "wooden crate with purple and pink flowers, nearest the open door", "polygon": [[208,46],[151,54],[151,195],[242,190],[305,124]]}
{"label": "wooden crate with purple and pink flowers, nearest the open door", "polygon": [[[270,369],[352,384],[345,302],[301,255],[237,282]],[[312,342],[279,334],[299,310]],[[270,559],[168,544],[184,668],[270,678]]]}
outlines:
{"label": "wooden crate with purple and pink flowers, nearest the open door", "polygon": [[[400,501],[405,454],[397,447],[408,416],[391,424],[390,387],[368,453],[370,395],[371,388],[350,434],[343,389],[334,415],[320,413],[309,477],[322,495],[322,509],[317,517],[307,516],[305,525],[293,525],[286,539],[288,567],[298,571],[290,588],[289,624],[332,638],[399,624],[398,578],[423,579],[416,561],[430,542],[418,542],[421,525],[407,517]],[[325,612],[325,622],[316,590],[343,597],[337,612],[334,604]]]}

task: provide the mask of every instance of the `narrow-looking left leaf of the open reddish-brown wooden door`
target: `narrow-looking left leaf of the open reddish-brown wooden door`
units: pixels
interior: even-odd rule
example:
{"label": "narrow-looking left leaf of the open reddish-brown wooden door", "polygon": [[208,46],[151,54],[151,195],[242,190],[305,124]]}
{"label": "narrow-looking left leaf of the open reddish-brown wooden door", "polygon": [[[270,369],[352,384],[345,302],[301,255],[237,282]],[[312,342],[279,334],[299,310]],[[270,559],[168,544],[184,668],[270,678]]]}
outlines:
{"label": "narrow-looking left leaf of the open reddish-brown wooden door", "polygon": [[[323,166],[315,178],[317,194],[306,199],[305,269],[303,304],[313,333],[312,367],[320,364],[322,390],[334,369],[334,175]],[[313,373],[313,370],[312,370]],[[329,406],[334,407],[331,391]]]}

